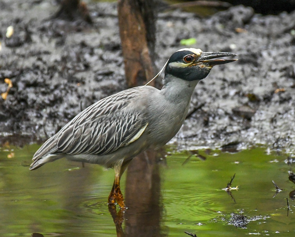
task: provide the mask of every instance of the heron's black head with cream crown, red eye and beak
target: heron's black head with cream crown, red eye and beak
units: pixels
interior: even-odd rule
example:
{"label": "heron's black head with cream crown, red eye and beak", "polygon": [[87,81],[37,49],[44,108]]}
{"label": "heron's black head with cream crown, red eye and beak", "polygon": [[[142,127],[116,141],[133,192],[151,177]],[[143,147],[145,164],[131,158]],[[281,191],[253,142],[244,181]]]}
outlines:
{"label": "heron's black head with cream crown, red eye and beak", "polygon": [[171,55],[165,68],[165,75],[171,74],[186,81],[199,81],[207,77],[213,66],[237,60],[217,59],[227,56],[236,56],[236,54],[202,52],[197,48],[183,48]]}

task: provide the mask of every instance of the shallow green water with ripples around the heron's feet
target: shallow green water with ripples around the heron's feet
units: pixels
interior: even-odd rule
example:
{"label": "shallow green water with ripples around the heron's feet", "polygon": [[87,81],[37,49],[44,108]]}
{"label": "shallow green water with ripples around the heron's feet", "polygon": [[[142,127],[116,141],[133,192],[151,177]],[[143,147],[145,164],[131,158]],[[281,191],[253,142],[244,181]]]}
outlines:
{"label": "shallow green water with ripples around the heron's feet", "polygon": [[123,175],[122,213],[106,204],[112,169],[60,159],[29,171],[38,147],[0,150],[0,236],[295,236],[286,155],[169,152]]}

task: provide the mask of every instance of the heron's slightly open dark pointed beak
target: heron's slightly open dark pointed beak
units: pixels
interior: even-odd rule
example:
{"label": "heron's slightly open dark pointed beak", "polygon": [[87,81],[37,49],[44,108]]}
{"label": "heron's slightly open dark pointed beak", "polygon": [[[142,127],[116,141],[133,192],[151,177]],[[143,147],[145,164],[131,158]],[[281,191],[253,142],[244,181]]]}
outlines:
{"label": "heron's slightly open dark pointed beak", "polygon": [[[213,53],[213,52],[202,52],[196,64],[203,64],[204,66],[213,67],[215,65],[225,64],[237,61],[237,59],[217,59],[221,57],[237,56],[235,53]],[[195,64],[195,65],[196,65]]]}

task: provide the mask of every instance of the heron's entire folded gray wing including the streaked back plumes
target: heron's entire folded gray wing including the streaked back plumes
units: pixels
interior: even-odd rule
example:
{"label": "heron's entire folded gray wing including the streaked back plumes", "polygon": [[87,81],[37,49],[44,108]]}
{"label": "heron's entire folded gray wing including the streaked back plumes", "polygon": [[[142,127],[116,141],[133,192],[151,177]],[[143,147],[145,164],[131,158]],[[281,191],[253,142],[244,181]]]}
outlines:
{"label": "heron's entire folded gray wing including the streaked back plumes", "polygon": [[128,145],[147,126],[144,108],[128,106],[136,103],[141,88],[124,90],[86,108],[48,139],[33,160],[58,153],[104,155]]}

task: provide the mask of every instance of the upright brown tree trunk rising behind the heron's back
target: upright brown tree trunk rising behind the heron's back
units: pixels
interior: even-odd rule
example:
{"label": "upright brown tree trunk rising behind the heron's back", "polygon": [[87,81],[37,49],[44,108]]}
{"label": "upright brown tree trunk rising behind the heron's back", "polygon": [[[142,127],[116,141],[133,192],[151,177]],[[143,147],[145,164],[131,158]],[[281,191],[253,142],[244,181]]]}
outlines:
{"label": "upright brown tree trunk rising behind the heron's back", "polygon": [[129,87],[144,85],[154,76],[154,9],[154,0],[118,1],[122,53]]}

